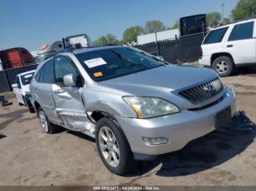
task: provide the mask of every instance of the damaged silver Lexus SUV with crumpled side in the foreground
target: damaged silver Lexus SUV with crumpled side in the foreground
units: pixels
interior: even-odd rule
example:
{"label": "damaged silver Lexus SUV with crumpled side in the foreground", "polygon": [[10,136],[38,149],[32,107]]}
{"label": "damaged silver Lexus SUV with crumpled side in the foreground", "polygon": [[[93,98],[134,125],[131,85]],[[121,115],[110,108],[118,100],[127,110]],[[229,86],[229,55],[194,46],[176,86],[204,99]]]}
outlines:
{"label": "damaged silver Lexus SUV with crumpled side in the foreground", "polygon": [[30,89],[45,133],[61,125],[95,138],[114,174],[181,149],[236,109],[234,91],[215,71],[171,65],[132,47],[61,52],[39,65]]}

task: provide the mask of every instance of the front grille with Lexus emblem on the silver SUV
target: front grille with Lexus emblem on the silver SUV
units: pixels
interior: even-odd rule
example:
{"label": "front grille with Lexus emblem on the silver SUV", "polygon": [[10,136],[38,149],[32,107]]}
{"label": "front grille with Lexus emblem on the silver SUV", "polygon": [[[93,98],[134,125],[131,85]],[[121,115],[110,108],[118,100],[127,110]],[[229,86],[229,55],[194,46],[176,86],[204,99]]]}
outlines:
{"label": "front grille with Lexus emblem on the silver SUV", "polygon": [[206,82],[203,85],[182,90],[179,95],[192,101],[194,104],[202,103],[215,95],[218,95],[223,90],[222,81],[219,78],[213,79],[210,82]]}

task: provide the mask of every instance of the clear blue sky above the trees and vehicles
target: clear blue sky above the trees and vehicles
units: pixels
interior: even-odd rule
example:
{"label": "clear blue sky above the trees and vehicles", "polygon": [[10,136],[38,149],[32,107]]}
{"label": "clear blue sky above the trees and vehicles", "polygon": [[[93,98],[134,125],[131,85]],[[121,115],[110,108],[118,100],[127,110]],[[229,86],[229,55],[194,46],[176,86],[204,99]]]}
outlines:
{"label": "clear blue sky above the trees and vehicles", "polygon": [[173,26],[180,17],[222,12],[228,17],[238,0],[0,0],[0,50],[42,44],[62,37],[105,34],[122,38],[129,26],[161,20]]}

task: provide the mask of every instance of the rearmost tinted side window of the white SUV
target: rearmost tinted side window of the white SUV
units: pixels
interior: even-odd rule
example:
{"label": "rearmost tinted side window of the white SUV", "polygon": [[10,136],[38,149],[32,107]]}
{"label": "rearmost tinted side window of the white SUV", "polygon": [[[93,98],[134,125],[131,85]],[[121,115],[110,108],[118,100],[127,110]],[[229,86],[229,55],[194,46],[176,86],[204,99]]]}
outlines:
{"label": "rearmost tinted side window of the white SUV", "polygon": [[203,41],[203,44],[222,42],[223,36],[226,34],[227,28],[228,27],[210,31],[210,33],[206,36],[206,39]]}

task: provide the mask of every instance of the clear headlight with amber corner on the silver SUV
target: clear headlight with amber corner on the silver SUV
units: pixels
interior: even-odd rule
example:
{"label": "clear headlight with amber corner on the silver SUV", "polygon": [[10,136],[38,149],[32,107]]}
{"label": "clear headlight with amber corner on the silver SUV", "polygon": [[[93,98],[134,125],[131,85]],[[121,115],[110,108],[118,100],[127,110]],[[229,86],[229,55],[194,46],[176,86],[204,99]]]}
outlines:
{"label": "clear headlight with amber corner on the silver SUV", "polygon": [[124,101],[136,112],[138,118],[157,117],[178,113],[176,105],[162,98],[124,96]]}

